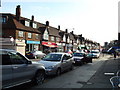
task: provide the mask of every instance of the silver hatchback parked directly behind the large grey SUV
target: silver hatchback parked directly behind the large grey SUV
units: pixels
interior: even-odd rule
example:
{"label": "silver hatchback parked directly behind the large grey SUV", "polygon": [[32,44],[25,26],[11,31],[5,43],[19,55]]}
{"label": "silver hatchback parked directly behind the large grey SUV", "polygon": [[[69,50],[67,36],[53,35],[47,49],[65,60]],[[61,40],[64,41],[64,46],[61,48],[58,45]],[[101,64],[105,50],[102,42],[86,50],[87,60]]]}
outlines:
{"label": "silver hatchback parked directly behind the large grey SUV", "polygon": [[49,53],[42,60],[47,75],[60,75],[63,71],[73,68],[72,55],[68,53]]}

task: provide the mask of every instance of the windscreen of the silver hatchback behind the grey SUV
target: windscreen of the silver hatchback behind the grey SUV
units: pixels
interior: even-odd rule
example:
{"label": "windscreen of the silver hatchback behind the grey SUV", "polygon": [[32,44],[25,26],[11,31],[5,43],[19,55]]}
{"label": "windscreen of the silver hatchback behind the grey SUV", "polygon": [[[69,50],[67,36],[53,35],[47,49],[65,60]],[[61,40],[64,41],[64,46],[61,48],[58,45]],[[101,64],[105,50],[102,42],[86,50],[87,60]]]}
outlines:
{"label": "windscreen of the silver hatchback behind the grey SUV", "polygon": [[48,54],[42,60],[45,61],[60,61],[62,54]]}

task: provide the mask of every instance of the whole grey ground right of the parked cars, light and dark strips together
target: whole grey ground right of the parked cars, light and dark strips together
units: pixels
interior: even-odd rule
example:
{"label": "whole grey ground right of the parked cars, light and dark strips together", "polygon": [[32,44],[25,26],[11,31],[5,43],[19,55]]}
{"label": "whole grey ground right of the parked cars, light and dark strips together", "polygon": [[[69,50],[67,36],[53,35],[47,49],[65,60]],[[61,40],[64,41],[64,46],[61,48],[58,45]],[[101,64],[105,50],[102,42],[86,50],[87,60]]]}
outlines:
{"label": "whole grey ground right of the parked cars, light and dark strips together", "polygon": [[106,72],[116,73],[119,69],[120,60],[110,55],[94,59],[93,63],[75,66],[73,70],[62,73],[60,76],[47,77],[42,85],[34,86],[31,83],[16,88],[26,90],[44,88],[112,88],[109,79],[112,76],[104,75]]}

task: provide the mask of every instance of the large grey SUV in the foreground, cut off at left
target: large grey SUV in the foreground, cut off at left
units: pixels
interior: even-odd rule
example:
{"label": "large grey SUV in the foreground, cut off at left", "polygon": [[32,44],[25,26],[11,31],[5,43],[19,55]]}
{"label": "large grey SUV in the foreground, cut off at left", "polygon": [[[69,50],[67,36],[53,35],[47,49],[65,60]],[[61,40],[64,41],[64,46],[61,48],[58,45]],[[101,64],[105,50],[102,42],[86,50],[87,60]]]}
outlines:
{"label": "large grey SUV in the foreground, cut off at left", "polygon": [[42,84],[45,79],[43,64],[32,62],[19,52],[0,49],[2,65],[0,65],[1,88],[10,88],[27,82]]}

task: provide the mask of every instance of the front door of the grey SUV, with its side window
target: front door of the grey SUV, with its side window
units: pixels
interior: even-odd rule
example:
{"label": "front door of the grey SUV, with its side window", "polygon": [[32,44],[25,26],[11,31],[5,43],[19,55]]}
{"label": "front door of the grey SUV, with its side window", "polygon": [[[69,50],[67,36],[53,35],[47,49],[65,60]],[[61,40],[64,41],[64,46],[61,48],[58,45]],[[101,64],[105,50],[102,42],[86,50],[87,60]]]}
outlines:
{"label": "front door of the grey SUV, with its side window", "polygon": [[28,64],[28,60],[20,53],[12,52],[9,54],[12,62],[14,84],[30,81],[35,72],[32,64]]}

